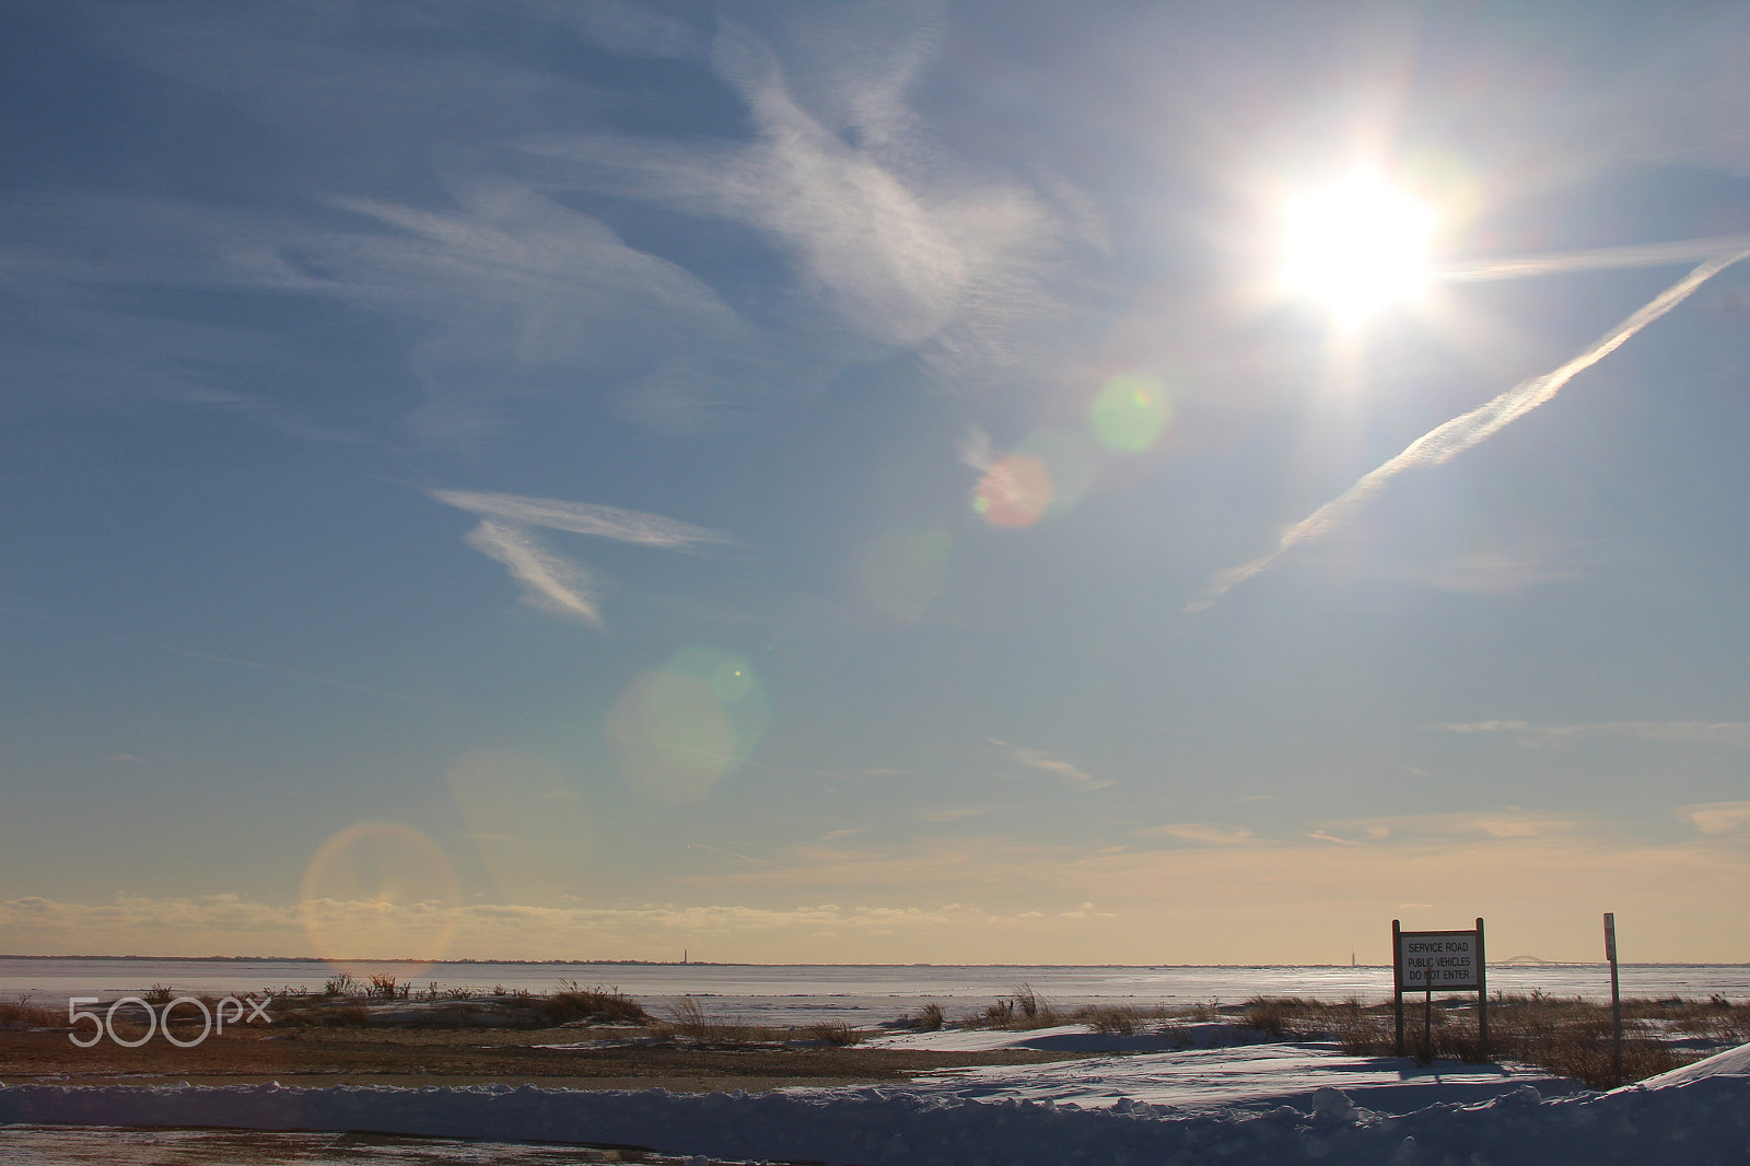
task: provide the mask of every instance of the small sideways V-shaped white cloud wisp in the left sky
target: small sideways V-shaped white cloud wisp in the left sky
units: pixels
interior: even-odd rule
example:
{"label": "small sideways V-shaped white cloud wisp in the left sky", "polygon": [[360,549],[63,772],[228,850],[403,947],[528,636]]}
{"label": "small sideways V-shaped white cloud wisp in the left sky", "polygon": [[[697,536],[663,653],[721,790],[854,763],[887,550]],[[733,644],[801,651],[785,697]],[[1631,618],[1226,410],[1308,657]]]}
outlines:
{"label": "small sideways V-shaped white cloud wisp in the left sky", "polygon": [[595,627],[602,625],[597,576],[583,564],[565,558],[541,543],[532,527],[569,530],[660,550],[691,550],[704,543],[735,541],[718,530],[695,527],[676,518],[614,506],[471,490],[427,490],[427,494],[446,506],[486,515],[478,527],[464,536],[464,541],[488,558],[504,564],[511,578],[523,587],[525,602],[541,611]]}

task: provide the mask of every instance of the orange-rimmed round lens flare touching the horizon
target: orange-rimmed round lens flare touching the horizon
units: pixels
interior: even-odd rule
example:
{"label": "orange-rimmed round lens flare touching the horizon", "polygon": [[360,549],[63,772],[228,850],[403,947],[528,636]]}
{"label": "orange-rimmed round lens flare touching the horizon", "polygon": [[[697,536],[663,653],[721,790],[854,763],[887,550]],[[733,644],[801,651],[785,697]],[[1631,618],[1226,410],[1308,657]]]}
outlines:
{"label": "orange-rimmed round lens flare touching the horizon", "polygon": [[[360,821],[338,832],[304,865],[298,914],[322,959],[443,958],[460,891],[450,856],[399,821]],[[410,966],[408,975],[424,968]]]}

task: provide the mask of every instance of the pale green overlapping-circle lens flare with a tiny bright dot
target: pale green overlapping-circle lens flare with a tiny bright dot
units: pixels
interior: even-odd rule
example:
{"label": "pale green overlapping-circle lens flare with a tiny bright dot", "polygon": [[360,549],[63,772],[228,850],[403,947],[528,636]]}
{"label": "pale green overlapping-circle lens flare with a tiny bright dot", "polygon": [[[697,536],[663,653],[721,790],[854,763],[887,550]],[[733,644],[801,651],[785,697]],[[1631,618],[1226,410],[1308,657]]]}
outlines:
{"label": "pale green overlapping-circle lens flare with a tiny bright dot", "polygon": [[634,788],[696,802],[747,760],[770,720],[765,686],[744,657],[684,648],[632,681],[607,714],[607,735]]}

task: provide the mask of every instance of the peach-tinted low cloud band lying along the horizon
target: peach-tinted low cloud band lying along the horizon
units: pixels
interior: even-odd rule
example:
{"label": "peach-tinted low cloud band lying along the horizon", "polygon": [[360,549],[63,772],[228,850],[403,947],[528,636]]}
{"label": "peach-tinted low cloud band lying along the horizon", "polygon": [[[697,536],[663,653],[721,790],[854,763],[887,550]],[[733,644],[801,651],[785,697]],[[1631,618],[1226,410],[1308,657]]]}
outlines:
{"label": "peach-tinted low cloud band lying along the horizon", "polygon": [[[1704,814],[1701,821],[1710,826],[1743,821],[1738,804],[1682,812],[1713,809],[1724,816]],[[994,839],[891,851],[817,846],[800,849],[784,868],[737,863],[735,874],[710,879],[735,888],[726,896],[639,896],[614,905],[560,898],[448,909],[324,902],[315,910],[334,931],[359,938],[359,949],[346,952],[355,958],[406,956],[438,924],[453,937],[448,954],[492,959],[553,959],[576,951],[677,958],[682,945],[691,945],[695,958],[709,952],[716,959],[798,963],[880,963],[901,952],[905,959],[936,963],[1022,961],[1038,959],[1041,951],[1060,952],[1062,961],[1092,951],[1104,959],[1148,963],[1162,958],[1160,937],[1169,935],[1172,958],[1186,963],[1269,963],[1281,958],[1284,945],[1316,952],[1321,942],[1332,945],[1330,959],[1340,959],[1348,944],[1337,951],[1334,933],[1374,935],[1382,945],[1384,923],[1412,896],[1438,912],[1430,923],[1486,914],[1503,951],[1596,959],[1596,907],[1605,902],[1642,921],[1636,935],[1647,951],[1724,963],[1743,959],[1743,938],[1717,921],[1741,914],[1741,888],[1750,874],[1750,851],[1734,830],[1741,826],[1661,844],[1582,828],[1505,837],[1405,830],[1377,846],[1320,839],[1130,851]],[[1349,833],[1340,825],[1330,832]],[[1466,872],[1463,886],[1452,884],[1454,870]],[[698,888],[705,881],[667,882]],[[1528,896],[1528,886],[1538,893]],[[1162,888],[1192,893],[1164,895]],[[1078,910],[1090,916],[1083,903],[1099,903],[1096,914],[1113,916],[1110,924],[1071,919]],[[1248,926],[1236,933],[1239,917]],[[1055,930],[1071,923],[1074,930]],[[296,905],[236,895],[130,895],[96,903],[14,896],[0,902],[0,930],[14,951],[42,954],[310,954]],[[838,938],[821,940],[824,931]],[[905,944],[858,938],[882,931],[905,937]]]}

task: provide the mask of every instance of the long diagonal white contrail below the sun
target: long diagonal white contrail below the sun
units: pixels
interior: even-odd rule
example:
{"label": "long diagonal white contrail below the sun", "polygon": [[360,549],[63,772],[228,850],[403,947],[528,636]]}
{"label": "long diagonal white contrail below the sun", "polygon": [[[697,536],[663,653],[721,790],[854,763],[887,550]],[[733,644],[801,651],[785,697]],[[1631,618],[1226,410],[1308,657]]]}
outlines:
{"label": "long diagonal white contrail below the sun", "polygon": [[[1325,502],[1323,506],[1314,509],[1311,515],[1307,515],[1295,525],[1288,527],[1288,530],[1284,530],[1283,537],[1278,541],[1276,550],[1272,550],[1269,555],[1264,555],[1262,558],[1253,558],[1244,565],[1232,567],[1228,571],[1222,571],[1220,574],[1216,574],[1209,581],[1209,587],[1204,588],[1202,595],[1185,604],[1185,611],[1202,611],[1211,604],[1214,604],[1214,601],[1218,601],[1222,595],[1244,583],[1246,579],[1269,571],[1276,564],[1276,560],[1281,558],[1284,553],[1288,553],[1295,546],[1300,546],[1302,543],[1316,539],[1318,536],[1325,534],[1326,530],[1340,523],[1344,518],[1348,518],[1351,511],[1360,509],[1376,494],[1379,494],[1379,490],[1384,488],[1388,481],[1396,478],[1405,469],[1414,469],[1418,466],[1438,466],[1440,462],[1456,457],[1458,453],[1463,453],[1465,450],[1477,445],[1484,438],[1489,438],[1496,431],[1505,429],[1512,422],[1519,420],[1536,406],[1554,397],[1558,392],[1561,392],[1563,385],[1566,385],[1570,380],[1575,378],[1575,375],[1589,369],[1591,366],[1598,364],[1606,355],[1620,348],[1629,336],[1647,327],[1648,324],[1657,320],[1661,315],[1664,315],[1676,305],[1689,299],[1689,296],[1698,287],[1706,284],[1710,278],[1713,278],[1726,268],[1732,266],[1740,259],[1750,257],[1750,247],[1745,247],[1746,242],[1745,238],[1734,238],[1729,242],[1736,243],[1738,247],[1727,254],[1715,254],[1712,259],[1698,266],[1694,271],[1680,278],[1676,284],[1659,292],[1640,312],[1617,324],[1614,329],[1605,333],[1603,338],[1598,340],[1598,343],[1594,343],[1591,348],[1587,348],[1580,355],[1573,357],[1572,361],[1558,368],[1554,373],[1544,373],[1542,376],[1531,376],[1530,380],[1522,380],[1507,392],[1503,392],[1502,396],[1489,401],[1488,404],[1477,406],[1468,413],[1454,417],[1452,420],[1442,425],[1435,425],[1423,436],[1410,441],[1402,453],[1398,453],[1386,464],[1379,466],[1377,469],[1363,474],[1353,487],[1349,487],[1332,501]],[[1690,243],[1666,243],[1664,247],[1687,247],[1687,245]],[[1643,254],[1652,249],[1614,249],[1614,250]],[[1584,256],[1598,252],[1580,252],[1580,254]],[[1550,259],[1561,259],[1561,257],[1552,256]],[[1624,264],[1619,263],[1619,266]],[[1556,270],[1556,268],[1545,268],[1545,270]]]}

